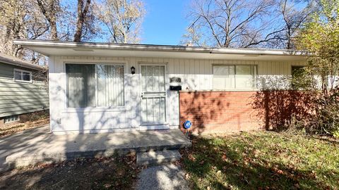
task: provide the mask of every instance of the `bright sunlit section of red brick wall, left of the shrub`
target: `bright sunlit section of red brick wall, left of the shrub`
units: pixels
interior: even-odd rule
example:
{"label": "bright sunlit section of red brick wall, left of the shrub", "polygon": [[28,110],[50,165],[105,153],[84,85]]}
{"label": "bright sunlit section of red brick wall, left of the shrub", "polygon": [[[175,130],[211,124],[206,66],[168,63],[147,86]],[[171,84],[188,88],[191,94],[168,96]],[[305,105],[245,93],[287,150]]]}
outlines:
{"label": "bright sunlit section of red brick wall, left of the shrub", "polygon": [[252,97],[256,91],[180,91],[180,124],[192,122],[191,132],[231,132],[259,129]]}

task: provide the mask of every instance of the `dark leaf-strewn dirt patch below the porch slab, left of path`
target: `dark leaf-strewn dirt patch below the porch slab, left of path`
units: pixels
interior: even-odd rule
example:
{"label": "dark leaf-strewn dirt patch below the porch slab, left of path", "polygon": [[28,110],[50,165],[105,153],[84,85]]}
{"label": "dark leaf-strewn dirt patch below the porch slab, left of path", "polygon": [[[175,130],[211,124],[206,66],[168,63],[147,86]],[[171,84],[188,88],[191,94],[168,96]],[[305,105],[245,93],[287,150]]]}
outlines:
{"label": "dark leaf-strewn dirt patch below the porch slab, left of path", "polygon": [[112,156],[15,169],[0,174],[0,189],[132,189],[136,157]]}

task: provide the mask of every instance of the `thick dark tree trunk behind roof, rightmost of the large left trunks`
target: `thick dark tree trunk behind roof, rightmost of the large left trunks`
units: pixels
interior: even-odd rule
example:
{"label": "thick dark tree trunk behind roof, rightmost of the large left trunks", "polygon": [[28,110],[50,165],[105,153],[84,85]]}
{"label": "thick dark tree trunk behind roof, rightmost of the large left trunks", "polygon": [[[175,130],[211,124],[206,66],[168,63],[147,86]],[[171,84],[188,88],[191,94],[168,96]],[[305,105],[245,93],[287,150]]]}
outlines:
{"label": "thick dark tree trunk behind roof, rightmost of the large left trunks", "polygon": [[83,34],[83,23],[90,7],[90,0],[86,0],[85,7],[83,8],[83,0],[78,0],[78,20],[76,22],[76,34],[74,34],[74,42],[81,42]]}

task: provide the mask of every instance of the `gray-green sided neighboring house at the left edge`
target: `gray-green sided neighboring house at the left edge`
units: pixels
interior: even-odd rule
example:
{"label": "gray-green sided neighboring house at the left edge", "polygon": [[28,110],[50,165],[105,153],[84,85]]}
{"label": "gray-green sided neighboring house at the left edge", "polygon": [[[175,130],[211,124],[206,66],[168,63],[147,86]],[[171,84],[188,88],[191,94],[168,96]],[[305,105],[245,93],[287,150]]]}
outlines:
{"label": "gray-green sided neighboring house at the left edge", "polygon": [[49,110],[47,70],[0,53],[0,126]]}

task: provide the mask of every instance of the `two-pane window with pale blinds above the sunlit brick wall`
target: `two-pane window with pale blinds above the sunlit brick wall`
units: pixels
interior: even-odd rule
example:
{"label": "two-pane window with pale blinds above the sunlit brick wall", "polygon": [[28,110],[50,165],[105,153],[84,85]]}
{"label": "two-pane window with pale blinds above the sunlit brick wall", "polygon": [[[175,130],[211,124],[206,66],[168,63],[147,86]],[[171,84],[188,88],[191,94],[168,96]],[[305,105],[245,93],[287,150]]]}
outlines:
{"label": "two-pane window with pale blinds above the sunlit brick wall", "polygon": [[256,65],[213,65],[213,89],[254,89]]}

